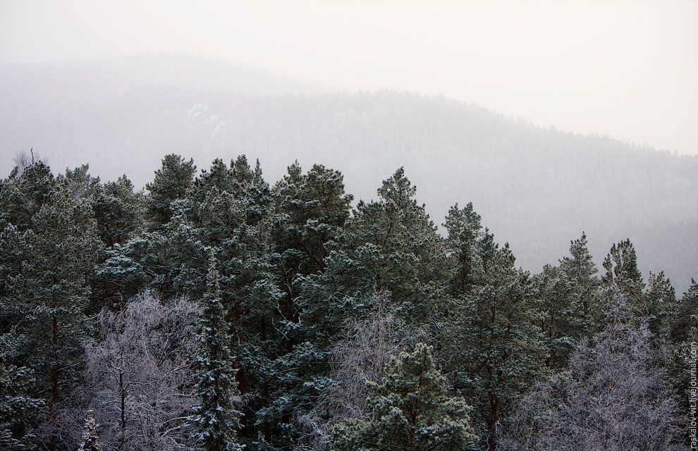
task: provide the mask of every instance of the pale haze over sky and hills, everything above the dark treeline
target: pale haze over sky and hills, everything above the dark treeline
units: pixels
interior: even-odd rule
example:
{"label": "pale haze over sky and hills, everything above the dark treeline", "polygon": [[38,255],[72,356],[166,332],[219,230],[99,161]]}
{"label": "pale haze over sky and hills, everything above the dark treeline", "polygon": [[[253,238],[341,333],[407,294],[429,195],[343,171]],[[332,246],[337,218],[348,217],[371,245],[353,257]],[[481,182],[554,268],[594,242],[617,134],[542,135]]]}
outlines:
{"label": "pale haze over sky and hills, everything above the dark treeline", "polygon": [[531,271],[630,237],[698,276],[698,1],[0,0],[0,175],[19,151],[140,188],[162,156],[295,159],[355,199],[396,168],[472,201]]}

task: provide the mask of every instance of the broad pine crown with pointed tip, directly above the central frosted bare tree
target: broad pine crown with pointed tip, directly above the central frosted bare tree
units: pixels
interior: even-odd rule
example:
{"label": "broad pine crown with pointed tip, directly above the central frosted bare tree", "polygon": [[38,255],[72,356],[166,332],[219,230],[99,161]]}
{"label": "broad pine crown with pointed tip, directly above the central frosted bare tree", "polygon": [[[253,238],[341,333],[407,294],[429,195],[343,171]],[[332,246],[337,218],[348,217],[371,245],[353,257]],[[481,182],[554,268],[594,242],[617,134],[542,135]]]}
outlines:
{"label": "broad pine crown with pointed tip, directly above the central frosted bare tree", "polygon": [[371,290],[389,290],[405,317],[428,323],[439,314],[448,268],[443,241],[416,192],[399,168],[383,181],[379,202],[357,205],[338,246],[351,261],[351,276]]}

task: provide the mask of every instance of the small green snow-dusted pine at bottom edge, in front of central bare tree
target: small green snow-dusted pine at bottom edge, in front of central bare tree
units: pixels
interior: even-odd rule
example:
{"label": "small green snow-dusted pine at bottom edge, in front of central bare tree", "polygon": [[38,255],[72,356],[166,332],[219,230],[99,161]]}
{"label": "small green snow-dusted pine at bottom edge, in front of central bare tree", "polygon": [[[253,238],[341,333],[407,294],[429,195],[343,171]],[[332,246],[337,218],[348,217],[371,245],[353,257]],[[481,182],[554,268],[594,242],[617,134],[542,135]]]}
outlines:
{"label": "small green snow-dusted pine at bottom edge, in front of central bare tree", "polygon": [[413,352],[391,358],[386,377],[369,382],[369,419],[333,428],[338,450],[460,451],[477,440],[469,424],[470,407],[448,394],[431,352],[420,343]]}

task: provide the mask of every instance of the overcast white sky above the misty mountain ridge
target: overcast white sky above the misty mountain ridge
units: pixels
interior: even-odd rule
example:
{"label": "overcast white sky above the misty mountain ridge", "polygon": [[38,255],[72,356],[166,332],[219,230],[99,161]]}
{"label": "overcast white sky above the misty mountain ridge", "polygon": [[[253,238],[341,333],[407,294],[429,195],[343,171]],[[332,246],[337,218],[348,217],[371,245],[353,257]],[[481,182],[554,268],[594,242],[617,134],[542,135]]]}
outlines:
{"label": "overcast white sky above the misty mountain ridge", "polygon": [[698,154],[698,0],[0,0],[0,63],[160,51]]}

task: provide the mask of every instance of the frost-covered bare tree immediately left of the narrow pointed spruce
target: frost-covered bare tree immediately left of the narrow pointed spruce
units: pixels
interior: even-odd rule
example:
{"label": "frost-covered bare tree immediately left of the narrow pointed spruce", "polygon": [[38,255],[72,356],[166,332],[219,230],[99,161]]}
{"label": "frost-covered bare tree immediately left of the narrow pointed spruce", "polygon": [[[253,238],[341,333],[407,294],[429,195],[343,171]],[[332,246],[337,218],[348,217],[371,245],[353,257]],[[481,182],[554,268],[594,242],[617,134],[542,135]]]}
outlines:
{"label": "frost-covered bare tree immediately left of the narrow pointed spruce", "polygon": [[87,345],[87,380],[106,450],[189,449],[195,404],[197,304],[162,304],[150,293],[99,314],[98,342]]}

